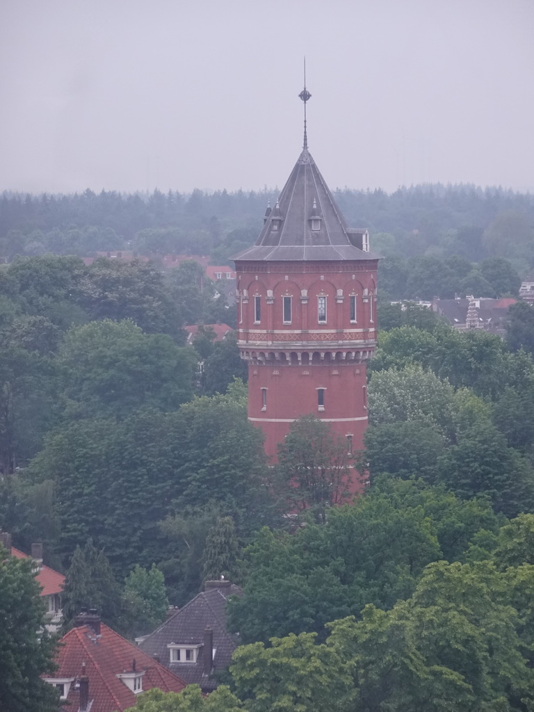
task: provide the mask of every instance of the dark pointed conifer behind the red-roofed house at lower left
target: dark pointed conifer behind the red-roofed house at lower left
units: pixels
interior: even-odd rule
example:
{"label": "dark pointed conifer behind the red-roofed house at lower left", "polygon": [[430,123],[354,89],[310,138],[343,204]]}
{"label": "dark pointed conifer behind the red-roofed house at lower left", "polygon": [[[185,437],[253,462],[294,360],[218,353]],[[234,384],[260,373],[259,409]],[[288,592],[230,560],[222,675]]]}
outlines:
{"label": "dark pointed conifer behind the red-roofed house at lower left", "polygon": [[120,588],[108,557],[93,545],[93,540],[88,539],[83,548],[75,548],[61,600],[65,627],[70,627],[83,607],[97,608],[105,624],[117,627],[121,614]]}

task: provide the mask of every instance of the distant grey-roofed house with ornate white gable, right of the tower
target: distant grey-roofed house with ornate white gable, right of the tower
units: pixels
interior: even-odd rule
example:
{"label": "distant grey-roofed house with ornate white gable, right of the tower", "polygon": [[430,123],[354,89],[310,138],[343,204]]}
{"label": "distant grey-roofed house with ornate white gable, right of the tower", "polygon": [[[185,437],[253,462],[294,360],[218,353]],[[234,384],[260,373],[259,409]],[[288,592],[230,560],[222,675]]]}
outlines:
{"label": "distant grey-roofed house with ornate white gable, right of the tower", "polygon": [[484,329],[503,336],[506,331],[505,322],[508,309],[516,301],[513,297],[502,299],[475,298],[473,296],[463,299],[434,298],[431,308],[460,331]]}

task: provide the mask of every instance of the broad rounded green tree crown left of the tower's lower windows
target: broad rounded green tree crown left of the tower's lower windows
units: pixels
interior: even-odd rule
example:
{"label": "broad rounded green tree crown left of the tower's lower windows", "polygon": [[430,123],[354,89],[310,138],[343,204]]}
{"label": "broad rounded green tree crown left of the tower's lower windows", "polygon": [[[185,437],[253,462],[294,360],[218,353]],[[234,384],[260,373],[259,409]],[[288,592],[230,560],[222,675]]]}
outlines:
{"label": "broad rounded green tree crown left of the tower's lower windows", "polygon": [[148,406],[177,409],[193,393],[194,352],[132,320],[104,319],[70,330],[59,354],[68,414],[124,417]]}

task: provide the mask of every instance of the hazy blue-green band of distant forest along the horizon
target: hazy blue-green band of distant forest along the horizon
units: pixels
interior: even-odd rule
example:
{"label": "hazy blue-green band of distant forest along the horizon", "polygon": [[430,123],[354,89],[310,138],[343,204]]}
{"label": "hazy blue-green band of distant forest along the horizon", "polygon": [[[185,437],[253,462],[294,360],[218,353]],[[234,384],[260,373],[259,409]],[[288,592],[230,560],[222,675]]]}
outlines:
{"label": "hazy blue-green band of distant forest along the horizon", "polygon": [[[446,258],[481,263],[501,257],[520,276],[534,266],[534,196],[501,188],[429,184],[382,190],[337,190],[351,226],[370,230],[372,249],[385,257]],[[0,254],[46,252],[87,256],[128,248],[142,254],[202,253],[212,263],[251,244],[267,202],[276,193],[194,190],[191,194],[33,196],[0,199]]]}

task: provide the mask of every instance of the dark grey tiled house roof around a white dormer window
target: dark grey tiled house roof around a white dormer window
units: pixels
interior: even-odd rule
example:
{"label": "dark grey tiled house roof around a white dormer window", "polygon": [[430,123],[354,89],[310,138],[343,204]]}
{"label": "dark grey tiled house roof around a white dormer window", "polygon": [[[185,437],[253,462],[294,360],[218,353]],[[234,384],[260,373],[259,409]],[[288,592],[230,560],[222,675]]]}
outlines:
{"label": "dark grey tiled house roof around a white dormer window", "polygon": [[[187,684],[197,683],[204,691],[217,686],[213,673],[226,669],[237,647],[236,637],[226,630],[226,597],[241,595],[239,586],[229,581],[208,581],[206,590],[195,596],[182,609],[170,617],[155,632],[140,643],[140,649],[157,655],[169,670]],[[213,632],[212,674],[204,674],[204,631]],[[169,645],[197,646],[196,660],[171,661]]]}

